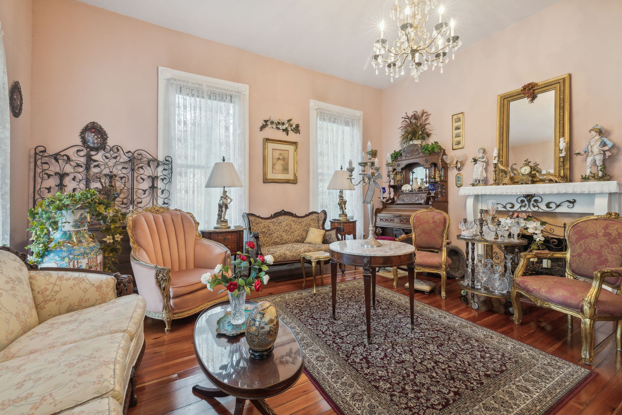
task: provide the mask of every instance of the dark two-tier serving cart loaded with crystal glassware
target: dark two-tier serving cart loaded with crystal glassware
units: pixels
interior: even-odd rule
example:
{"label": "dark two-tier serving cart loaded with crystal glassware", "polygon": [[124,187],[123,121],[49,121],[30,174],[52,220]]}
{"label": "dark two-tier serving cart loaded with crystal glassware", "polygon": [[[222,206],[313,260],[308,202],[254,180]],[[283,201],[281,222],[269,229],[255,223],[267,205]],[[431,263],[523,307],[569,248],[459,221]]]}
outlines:
{"label": "dark two-tier serving cart loaded with crystal glassware", "polygon": [[[468,293],[471,294],[471,307],[475,310],[480,308],[478,301],[475,301],[475,294],[509,300],[512,291],[511,274],[518,264],[518,247],[527,245],[528,241],[525,238],[519,238],[518,231],[514,233],[514,230],[514,235],[508,237],[508,228],[500,220],[495,221],[491,215],[486,220],[481,209],[478,219],[471,223],[467,223],[465,219],[460,224],[460,228],[473,230],[470,232],[471,235],[463,233],[463,235],[456,236],[457,240],[464,241],[466,245],[465,278],[457,281],[460,294],[464,297],[468,296]],[[475,244],[485,245],[485,254],[478,254],[478,263],[475,262]],[[503,253],[503,258],[499,258],[494,253],[495,247]],[[484,268],[483,260],[488,264],[487,268]],[[503,265],[504,269],[501,273]],[[514,314],[513,307],[509,307],[509,312]]]}

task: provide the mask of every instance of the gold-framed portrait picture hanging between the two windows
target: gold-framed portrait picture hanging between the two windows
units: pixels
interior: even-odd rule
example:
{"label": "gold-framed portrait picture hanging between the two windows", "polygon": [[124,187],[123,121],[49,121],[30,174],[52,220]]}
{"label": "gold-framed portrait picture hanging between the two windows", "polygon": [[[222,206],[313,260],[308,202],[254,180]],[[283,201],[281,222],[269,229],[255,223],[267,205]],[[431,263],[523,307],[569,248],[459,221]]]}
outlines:
{"label": "gold-framed portrait picture hanging between the two windows", "polygon": [[264,138],[264,183],[298,183],[298,142]]}

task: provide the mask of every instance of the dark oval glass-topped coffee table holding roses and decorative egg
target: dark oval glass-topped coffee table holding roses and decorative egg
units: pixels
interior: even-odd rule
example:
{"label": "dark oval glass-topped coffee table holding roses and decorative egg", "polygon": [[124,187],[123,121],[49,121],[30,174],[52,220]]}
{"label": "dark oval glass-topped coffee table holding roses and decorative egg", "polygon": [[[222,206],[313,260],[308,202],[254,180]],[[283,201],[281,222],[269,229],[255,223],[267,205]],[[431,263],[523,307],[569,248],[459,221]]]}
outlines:
{"label": "dark oval glass-topped coffee table holding roses and decorative egg", "polygon": [[[252,309],[254,305],[246,301],[247,308]],[[216,388],[195,385],[192,390],[210,398],[235,396],[234,415],[243,413],[246,399],[260,413],[274,415],[264,399],[289,389],[300,377],[304,359],[298,338],[279,317],[279,333],[272,355],[256,360],[248,351],[244,334],[228,337],[216,333],[216,322],[228,308],[228,301],[218,302],[198,316],[194,330],[195,354],[203,373]]]}

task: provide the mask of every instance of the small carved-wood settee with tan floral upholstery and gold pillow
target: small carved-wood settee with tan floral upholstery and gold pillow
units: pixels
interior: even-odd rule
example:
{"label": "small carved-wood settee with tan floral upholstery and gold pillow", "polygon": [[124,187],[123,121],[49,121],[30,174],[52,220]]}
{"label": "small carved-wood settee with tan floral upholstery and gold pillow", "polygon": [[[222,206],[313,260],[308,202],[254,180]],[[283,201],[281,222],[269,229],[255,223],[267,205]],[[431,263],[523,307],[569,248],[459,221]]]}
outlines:
{"label": "small carved-wood settee with tan floral upholstery and gold pillow", "polygon": [[[342,228],[324,228],[327,215],[325,210],[302,216],[281,210],[265,218],[254,213],[243,213],[242,217],[256,253],[272,255],[275,264],[287,264],[300,262],[300,254],[305,252],[328,252],[328,245],[340,240]],[[321,244],[304,243],[309,228],[326,231]]]}

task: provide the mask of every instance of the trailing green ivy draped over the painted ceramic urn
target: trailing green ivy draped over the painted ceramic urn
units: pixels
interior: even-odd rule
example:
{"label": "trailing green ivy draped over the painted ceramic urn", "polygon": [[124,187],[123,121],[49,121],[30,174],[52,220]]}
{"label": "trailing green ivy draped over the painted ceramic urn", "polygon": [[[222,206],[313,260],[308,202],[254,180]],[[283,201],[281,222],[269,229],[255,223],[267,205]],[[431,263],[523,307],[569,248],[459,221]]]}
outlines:
{"label": "trailing green ivy draped over the painted ceramic urn", "polygon": [[118,263],[114,259],[114,254],[121,252],[121,238],[125,230],[121,228],[121,223],[125,220],[125,215],[116,206],[114,200],[118,194],[106,195],[98,193],[95,189],[80,190],[75,193],[61,193],[50,195],[39,203],[34,209],[28,210],[32,243],[26,249],[32,249],[32,256],[29,262],[39,264],[45,253],[49,249],[57,248],[60,243],[52,243],[52,234],[58,229],[60,220],[63,218],[63,211],[85,209],[91,220],[101,222],[101,233],[106,235],[104,243],[101,244],[103,253],[104,271],[114,272],[113,263]]}

